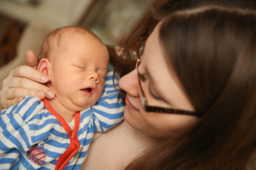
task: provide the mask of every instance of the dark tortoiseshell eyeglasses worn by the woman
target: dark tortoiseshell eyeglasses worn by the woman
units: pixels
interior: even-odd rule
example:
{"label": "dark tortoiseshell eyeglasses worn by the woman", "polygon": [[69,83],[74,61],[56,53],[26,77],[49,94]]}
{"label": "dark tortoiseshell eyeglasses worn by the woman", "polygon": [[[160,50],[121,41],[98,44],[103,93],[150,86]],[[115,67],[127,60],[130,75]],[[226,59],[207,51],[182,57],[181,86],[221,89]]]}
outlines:
{"label": "dark tortoiseshell eyeglasses worn by the woman", "polygon": [[145,41],[147,39],[147,35],[143,34],[140,37],[139,44],[138,44],[138,59],[136,63],[136,69],[138,72],[138,81],[139,81],[139,86],[140,86],[140,100],[141,104],[146,112],[159,112],[159,113],[173,113],[173,114],[185,114],[185,115],[192,115],[192,116],[202,116],[202,114],[198,112],[193,112],[193,111],[186,111],[186,110],[177,110],[177,109],[171,109],[171,108],[163,108],[163,107],[157,107],[157,106],[148,106],[147,105],[147,98],[145,96],[145,93],[143,92],[141,88],[141,82],[146,81],[146,77],[142,74],[139,73],[138,66],[140,65],[140,56],[143,53],[143,48],[145,45]]}

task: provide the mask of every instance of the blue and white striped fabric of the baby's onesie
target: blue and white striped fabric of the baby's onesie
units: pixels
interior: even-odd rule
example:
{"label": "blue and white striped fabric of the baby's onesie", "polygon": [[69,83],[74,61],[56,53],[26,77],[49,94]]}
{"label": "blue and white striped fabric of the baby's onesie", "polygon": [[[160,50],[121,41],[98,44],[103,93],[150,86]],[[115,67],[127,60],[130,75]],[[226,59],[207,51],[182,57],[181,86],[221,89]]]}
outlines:
{"label": "blue and white striped fabric of the baby's onesie", "polygon": [[[77,132],[80,148],[65,170],[81,168],[94,132],[105,132],[123,120],[124,105],[115,92],[112,76],[113,71],[108,72],[98,102],[80,111]],[[0,169],[53,170],[69,145],[66,131],[38,98],[25,97],[19,104],[0,113]],[[39,154],[45,152],[42,166],[28,156],[31,148]]]}

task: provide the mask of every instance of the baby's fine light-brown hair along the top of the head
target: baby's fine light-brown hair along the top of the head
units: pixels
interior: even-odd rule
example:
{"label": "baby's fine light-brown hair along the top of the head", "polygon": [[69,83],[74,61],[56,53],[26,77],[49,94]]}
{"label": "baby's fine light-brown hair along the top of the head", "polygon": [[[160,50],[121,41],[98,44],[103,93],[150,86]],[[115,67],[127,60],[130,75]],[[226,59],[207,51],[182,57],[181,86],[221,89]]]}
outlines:
{"label": "baby's fine light-brown hair along the top of the head", "polygon": [[60,46],[61,43],[61,36],[63,33],[70,32],[70,33],[79,33],[88,36],[89,38],[93,38],[94,40],[98,40],[103,44],[103,42],[99,39],[97,35],[95,35],[92,31],[80,27],[80,26],[65,26],[60,27],[53,30],[47,37],[44,39],[41,49],[39,52],[38,59],[41,60],[43,58],[49,58],[50,52]]}

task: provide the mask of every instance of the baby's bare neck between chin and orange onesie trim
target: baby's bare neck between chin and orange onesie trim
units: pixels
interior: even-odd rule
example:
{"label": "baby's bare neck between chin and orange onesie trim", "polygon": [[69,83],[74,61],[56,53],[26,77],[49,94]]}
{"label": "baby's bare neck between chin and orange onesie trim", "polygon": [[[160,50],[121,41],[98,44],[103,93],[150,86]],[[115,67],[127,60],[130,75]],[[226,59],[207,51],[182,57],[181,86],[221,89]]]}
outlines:
{"label": "baby's bare neck between chin and orange onesie trim", "polygon": [[75,111],[67,109],[56,96],[52,99],[47,99],[52,109],[57,112],[67,122],[71,122],[74,119]]}

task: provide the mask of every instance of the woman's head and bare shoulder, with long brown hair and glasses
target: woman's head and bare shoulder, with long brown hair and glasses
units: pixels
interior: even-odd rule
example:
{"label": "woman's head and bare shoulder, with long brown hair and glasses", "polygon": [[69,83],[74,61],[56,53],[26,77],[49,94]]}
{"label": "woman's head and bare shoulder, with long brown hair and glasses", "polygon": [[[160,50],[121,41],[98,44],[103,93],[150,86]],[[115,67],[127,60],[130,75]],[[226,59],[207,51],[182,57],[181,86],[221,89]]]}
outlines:
{"label": "woman's head and bare shoulder, with long brown hair and glasses", "polygon": [[127,92],[126,122],[92,144],[84,168],[250,165],[256,143],[255,22],[252,11],[221,7],[165,17],[139,51],[136,69],[119,81]]}

